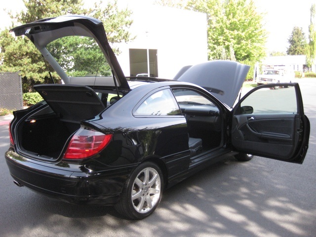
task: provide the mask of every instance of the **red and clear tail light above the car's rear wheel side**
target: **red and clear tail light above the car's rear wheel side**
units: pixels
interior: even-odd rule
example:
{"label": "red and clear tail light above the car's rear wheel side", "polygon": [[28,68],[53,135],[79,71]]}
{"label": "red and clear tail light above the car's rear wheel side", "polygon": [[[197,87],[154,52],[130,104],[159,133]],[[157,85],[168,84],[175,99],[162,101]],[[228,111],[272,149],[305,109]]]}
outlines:
{"label": "red and clear tail light above the car's rear wheel side", "polygon": [[112,139],[112,134],[104,134],[88,128],[80,128],[72,137],[64,159],[83,159],[96,155]]}

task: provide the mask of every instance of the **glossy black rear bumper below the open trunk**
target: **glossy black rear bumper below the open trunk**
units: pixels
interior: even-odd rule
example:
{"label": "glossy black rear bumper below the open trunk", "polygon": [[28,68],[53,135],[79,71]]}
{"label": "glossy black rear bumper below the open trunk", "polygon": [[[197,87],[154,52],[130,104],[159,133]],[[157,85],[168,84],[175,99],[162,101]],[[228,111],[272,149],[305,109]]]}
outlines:
{"label": "glossy black rear bumper below the open trunk", "polygon": [[131,170],[83,172],[80,170],[83,169],[82,165],[59,169],[56,165],[41,165],[21,159],[12,150],[5,153],[5,159],[11,176],[21,185],[48,197],[75,204],[115,204]]}

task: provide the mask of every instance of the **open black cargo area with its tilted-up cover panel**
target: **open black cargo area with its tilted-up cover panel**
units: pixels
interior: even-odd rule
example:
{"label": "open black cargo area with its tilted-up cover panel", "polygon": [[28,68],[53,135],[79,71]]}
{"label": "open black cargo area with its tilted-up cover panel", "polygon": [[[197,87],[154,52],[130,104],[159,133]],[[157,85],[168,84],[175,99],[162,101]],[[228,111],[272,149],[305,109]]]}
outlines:
{"label": "open black cargo area with its tilted-up cover panel", "polygon": [[36,159],[56,160],[80,128],[80,121],[94,118],[106,107],[87,86],[44,84],[34,88],[50,108],[46,105],[19,122],[19,150]]}

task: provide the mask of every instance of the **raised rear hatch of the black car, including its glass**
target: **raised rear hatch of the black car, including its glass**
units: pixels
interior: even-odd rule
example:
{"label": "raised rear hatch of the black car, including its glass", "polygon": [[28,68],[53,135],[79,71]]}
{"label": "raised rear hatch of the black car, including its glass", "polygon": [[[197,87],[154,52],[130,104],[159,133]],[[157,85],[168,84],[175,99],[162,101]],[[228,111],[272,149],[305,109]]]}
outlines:
{"label": "raised rear hatch of the black car, including its glass", "polygon": [[[103,23],[98,19],[64,15],[21,25],[10,32],[14,32],[15,36],[28,37],[65,84],[90,85],[87,83],[93,76],[92,81],[99,81],[100,85],[129,90]],[[74,53],[77,50],[79,56]],[[112,77],[108,77],[110,74]],[[99,79],[96,79],[97,75]],[[76,82],[77,78],[81,83]]]}

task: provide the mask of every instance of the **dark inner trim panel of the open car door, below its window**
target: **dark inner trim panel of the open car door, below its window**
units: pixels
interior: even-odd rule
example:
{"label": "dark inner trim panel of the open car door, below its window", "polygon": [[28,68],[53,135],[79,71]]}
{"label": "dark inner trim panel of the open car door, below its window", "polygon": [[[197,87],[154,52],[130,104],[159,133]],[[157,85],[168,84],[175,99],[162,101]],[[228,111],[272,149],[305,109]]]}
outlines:
{"label": "dark inner trim panel of the open car door, below its window", "polygon": [[267,157],[277,154],[279,158],[286,159],[293,155],[296,149],[294,144],[299,139],[298,115],[277,115],[275,118],[271,118],[271,115],[255,115],[250,121],[247,117],[233,118],[233,145],[254,154],[263,153]]}

